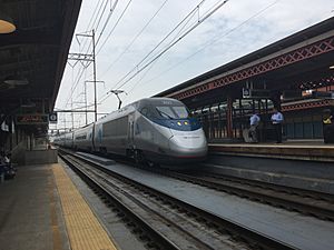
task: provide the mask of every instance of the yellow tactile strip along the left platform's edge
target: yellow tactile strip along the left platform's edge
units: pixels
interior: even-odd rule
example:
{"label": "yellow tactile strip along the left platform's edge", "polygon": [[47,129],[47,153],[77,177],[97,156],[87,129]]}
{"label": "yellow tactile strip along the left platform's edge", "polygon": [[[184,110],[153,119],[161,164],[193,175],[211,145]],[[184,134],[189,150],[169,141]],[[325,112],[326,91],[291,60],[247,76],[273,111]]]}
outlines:
{"label": "yellow tactile strip along the left platform's edge", "polygon": [[52,166],[71,250],[117,249],[61,164]]}

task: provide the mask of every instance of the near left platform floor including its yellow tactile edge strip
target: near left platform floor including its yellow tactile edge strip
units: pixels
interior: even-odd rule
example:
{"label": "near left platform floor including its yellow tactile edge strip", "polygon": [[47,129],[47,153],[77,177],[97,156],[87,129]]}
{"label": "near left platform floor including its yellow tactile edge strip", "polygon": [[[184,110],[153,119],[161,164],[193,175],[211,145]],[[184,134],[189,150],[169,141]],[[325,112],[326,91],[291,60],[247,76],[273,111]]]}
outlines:
{"label": "near left platform floor including its yellow tactile edge strip", "polygon": [[61,164],[19,167],[0,200],[0,249],[116,249]]}

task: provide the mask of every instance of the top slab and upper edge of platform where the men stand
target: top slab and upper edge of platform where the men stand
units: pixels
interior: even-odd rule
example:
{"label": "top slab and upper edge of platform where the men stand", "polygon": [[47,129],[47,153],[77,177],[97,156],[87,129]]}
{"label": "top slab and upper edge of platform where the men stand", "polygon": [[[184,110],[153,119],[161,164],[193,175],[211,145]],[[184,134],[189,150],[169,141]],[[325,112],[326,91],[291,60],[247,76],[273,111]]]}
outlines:
{"label": "top slab and upper edge of platform where the men stand", "polygon": [[209,143],[209,153],[334,162],[334,144],[322,140],[293,140],[283,143]]}

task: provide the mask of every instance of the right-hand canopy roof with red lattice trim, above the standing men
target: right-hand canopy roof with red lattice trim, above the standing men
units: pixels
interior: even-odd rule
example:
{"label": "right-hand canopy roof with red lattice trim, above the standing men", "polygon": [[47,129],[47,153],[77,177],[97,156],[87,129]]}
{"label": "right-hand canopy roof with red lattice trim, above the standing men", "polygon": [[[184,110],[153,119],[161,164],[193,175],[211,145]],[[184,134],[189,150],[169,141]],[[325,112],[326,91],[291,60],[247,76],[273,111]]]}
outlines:
{"label": "right-hand canopy roof with red lattice trim, above the standing men", "polygon": [[334,84],[334,18],[213,69],[156,97],[170,97],[190,108],[242,98],[243,88],[271,92],[305,91]]}

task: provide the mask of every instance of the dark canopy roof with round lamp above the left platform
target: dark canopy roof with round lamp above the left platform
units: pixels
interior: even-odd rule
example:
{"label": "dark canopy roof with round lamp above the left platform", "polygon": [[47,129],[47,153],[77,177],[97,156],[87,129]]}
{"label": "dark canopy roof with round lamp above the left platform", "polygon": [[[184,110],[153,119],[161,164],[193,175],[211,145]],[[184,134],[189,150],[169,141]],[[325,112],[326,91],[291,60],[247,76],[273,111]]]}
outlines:
{"label": "dark canopy roof with round lamp above the left platform", "polygon": [[81,0],[0,0],[1,117],[52,111],[80,6]]}

